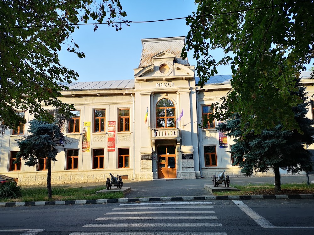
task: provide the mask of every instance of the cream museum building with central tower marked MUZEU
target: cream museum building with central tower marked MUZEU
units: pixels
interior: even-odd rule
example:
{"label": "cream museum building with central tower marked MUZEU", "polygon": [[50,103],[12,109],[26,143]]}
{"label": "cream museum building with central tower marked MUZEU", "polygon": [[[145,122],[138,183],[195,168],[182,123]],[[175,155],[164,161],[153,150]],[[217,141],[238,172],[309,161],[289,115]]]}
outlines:
{"label": "cream museum building with central tower marked MUZEU", "polygon": [[[60,149],[52,162],[52,183],[106,181],[109,173],[128,180],[212,177],[223,170],[241,175],[228,153],[233,141],[215,129],[218,122],[199,125],[211,104],[230,90],[231,75],[213,76],[201,88],[195,67],[181,58],[185,37],[142,39],[142,44],[134,79],[64,84],[69,89],[60,99],[76,110],[64,127],[67,152]],[[310,74],[302,83],[311,96]],[[28,111],[20,114],[33,119]],[[23,159],[14,164],[16,140],[28,134],[26,123],[1,137],[0,174],[19,184],[45,183],[46,159],[34,167]]]}

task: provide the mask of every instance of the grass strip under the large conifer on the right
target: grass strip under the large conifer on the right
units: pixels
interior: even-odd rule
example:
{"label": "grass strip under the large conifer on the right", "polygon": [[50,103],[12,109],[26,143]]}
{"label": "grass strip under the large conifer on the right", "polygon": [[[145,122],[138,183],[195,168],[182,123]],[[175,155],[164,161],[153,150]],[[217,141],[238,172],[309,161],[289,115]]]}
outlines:
{"label": "grass strip under the large conifer on the right", "polygon": [[273,184],[263,184],[263,185],[230,185],[241,191],[229,191],[229,192],[214,192],[216,196],[226,196],[226,195],[275,195],[275,194],[314,194],[314,185],[309,186],[306,183],[303,184],[283,184],[281,185],[281,191],[275,193]]}

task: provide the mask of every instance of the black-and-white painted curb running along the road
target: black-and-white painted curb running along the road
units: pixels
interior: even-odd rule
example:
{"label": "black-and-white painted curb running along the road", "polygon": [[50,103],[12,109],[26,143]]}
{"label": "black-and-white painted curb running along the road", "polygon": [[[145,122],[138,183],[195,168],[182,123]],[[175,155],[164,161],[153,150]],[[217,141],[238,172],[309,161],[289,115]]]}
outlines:
{"label": "black-and-white painted curb running along the road", "polygon": [[51,206],[51,205],[74,205],[74,204],[85,205],[85,204],[147,202],[147,201],[205,201],[205,200],[260,200],[260,199],[313,199],[313,198],[314,198],[314,194],[140,197],[140,198],[97,199],[97,200],[76,200],[76,201],[0,202],[0,207],[5,207],[5,206]]}

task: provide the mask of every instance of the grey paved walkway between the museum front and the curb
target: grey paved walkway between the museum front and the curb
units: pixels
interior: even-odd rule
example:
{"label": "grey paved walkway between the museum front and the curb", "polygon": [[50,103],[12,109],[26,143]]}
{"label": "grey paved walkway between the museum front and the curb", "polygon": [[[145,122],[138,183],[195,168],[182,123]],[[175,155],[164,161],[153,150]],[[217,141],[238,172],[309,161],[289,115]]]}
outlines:
{"label": "grey paved walkway between the museum front and the curb", "polygon": [[[314,184],[314,175],[310,175],[310,182]],[[259,184],[273,184],[274,177],[231,177],[230,184],[234,185],[259,185]],[[282,176],[283,184],[287,183],[303,183],[306,182],[306,175]],[[190,179],[190,180],[149,180],[149,181],[132,181],[125,180],[123,187],[131,187],[132,191],[127,193],[125,197],[166,197],[166,196],[206,196],[211,193],[204,189],[205,184],[212,184],[212,179]],[[106,182],[90,182],[80,184],[64,185],[68,187],[84,187],[106,188]]]}

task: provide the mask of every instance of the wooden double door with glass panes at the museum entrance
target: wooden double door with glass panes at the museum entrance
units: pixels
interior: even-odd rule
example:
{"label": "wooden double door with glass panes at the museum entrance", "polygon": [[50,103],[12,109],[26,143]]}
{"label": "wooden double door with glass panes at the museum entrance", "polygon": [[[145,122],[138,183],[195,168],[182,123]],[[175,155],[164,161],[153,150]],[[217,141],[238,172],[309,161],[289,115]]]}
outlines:
{"label": "wooden double door with glass panes at the museum entrance", "polygon": [[176,178],[176,146],[159,145],[158,155],[158,178]]}

